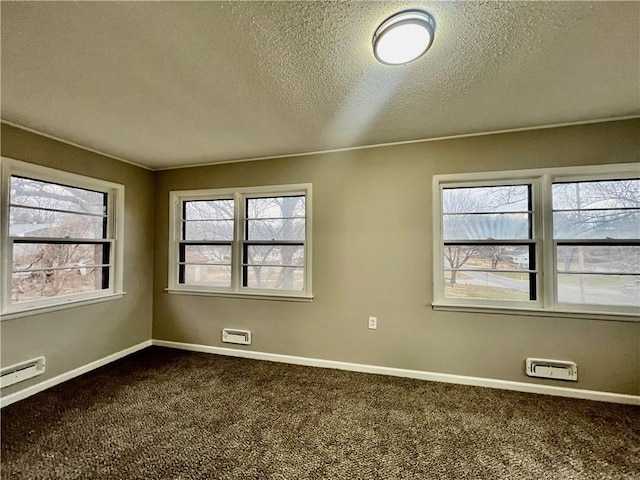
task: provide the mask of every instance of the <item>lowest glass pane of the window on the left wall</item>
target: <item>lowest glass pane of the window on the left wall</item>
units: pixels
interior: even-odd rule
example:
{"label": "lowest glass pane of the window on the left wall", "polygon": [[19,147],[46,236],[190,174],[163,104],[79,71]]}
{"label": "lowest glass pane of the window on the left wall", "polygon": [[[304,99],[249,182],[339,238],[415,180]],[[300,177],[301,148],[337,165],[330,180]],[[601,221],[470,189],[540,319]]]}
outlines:
{"label": "lowest glass pane of the window on the left wall", "polygon": [[100,267],[76,267],[12,274],[11,302],[40,300],[74,293],[102,290]]}

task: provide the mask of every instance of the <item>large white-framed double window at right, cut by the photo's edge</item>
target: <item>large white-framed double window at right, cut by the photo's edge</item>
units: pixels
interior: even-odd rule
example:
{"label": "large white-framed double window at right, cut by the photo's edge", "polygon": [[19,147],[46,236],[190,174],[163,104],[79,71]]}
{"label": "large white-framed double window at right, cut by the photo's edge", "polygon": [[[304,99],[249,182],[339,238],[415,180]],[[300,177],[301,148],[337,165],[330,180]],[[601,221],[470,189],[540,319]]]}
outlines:
{"label": "large white-framed double window at right, cut by the photo's edge", "polygon": [[635,315],[630,165],[434,177],[434,305]]}

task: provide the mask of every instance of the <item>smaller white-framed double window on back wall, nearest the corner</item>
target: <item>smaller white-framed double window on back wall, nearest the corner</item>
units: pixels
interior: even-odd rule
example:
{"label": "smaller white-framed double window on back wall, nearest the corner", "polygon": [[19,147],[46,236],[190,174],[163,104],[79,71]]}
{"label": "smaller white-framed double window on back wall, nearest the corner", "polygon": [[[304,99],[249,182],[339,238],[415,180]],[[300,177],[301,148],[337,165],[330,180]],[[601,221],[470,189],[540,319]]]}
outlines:
{"label": "smaller white-framed double window on back wall, nearest the corner", "polygon": [[169,291],[311,298],[311,185],[171,192]]}

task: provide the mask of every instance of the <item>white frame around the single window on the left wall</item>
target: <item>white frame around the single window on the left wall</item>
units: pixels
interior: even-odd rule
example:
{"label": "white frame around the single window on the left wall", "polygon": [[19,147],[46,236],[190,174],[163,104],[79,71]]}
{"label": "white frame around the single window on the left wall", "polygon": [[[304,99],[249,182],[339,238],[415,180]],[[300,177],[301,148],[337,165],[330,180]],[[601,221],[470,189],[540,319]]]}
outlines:
{"label": "white frame around the single window on the left wall", "polygon": [[[2,320],[121,298],[125,294],[123,291],[124,186],[6,157],[0,158],[0,170],[0,238],[2,240],[0,248],[2,295],[0,303]],[[10,180],[13,175],[107,194],[107,237],[105,243],[111,245],[108,288],[19,303],[11,302],[13,238],[9,235],[9,201]]]}

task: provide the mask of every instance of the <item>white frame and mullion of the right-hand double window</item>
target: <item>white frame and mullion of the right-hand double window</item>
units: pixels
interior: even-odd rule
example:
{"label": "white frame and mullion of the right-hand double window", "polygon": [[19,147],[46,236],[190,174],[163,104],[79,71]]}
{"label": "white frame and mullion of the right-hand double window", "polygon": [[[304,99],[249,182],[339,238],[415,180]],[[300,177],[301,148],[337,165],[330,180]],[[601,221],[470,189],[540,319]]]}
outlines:
{"label": "white frame and mullion of the right-hand double window", "polygon": [[[519,313],[541,316],[640,321],[640,311],[632,306],[582,305],[558,301],[556,243],[553,238],[552,186],[559,182],[640,178],[637,163],[580,167],[555,167],[502,172],[436,175],[433,177],[433,287],[432,307],[436,310],[481,313]],[[536,243],[537,299],[507,301],[450,298],[444,296],[444,239],[442,191],[456,187],[532,185],[533,239]],[[637,240],[637,239],[634,239]],[[503,243],[502,241],[500,242]],[[506,242],[509,243],[509,242]],[[561,242],[562,243],[562,242]]]}

